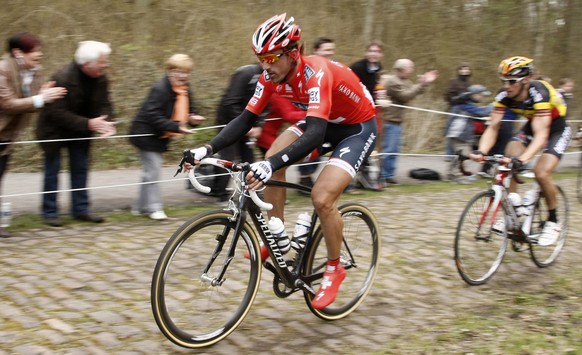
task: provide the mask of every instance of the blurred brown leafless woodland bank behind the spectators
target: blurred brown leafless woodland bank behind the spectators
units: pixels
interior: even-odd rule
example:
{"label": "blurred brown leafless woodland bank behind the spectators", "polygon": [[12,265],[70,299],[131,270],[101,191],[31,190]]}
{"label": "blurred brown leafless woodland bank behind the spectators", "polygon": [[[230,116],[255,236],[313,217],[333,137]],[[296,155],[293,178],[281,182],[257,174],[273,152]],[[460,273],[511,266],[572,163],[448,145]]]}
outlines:
{"label": "blurred brown leafless woodland bank behind the spectators", "polygon": [[[119,133],[128,124],[153,82],[163,74],[164,60],[184,52],[195,60],[191,82],[202,113],[214,121],[221,92],[232,71],[254,60],[250,36],[268,17],[287,12],[303,28],[306,50],[315,38],[337,43],[336,59],[347,64],[363,56],[365,44],[385,44],[384,67],[408,57],[419,73],[438,69],[441,77],[414,101],[415,106],[442,110],[446,82],[460,62],[474,68],[472,81],[492,90],[499,86],[496,69],[510,55],[535,58],[539,73],[556,83],[575,79],[582,96],[582,3],[578,0],[122,0],[71,1],[1,0],[0,35],[29,31],[44,41],[48,75],[72,59],[77,42],[111,43],[109,76]],[[579,118],[574,101],[570,118]],[[406,151],[439,151],[445,116],[410,111]],[[577,125],[577,124],[576,124]],[[208,133],[206,133],[208,134]],[[196,144],[204,134],[175,144]],[[28,133],[26,138],[33,136]],[[109,164],[133,164],[125,139],[100,144],[100,159]],[[19,149],[30,156],[35,145]],[[130,152],[132,150],[129,150]]]}

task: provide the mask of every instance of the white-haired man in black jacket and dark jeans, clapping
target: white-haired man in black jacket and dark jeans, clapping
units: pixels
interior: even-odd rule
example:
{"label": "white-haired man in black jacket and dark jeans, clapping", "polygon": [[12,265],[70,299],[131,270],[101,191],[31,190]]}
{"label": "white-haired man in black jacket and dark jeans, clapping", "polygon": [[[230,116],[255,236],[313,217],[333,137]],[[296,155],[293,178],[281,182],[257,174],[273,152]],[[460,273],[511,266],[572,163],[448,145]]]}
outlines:
{"label": "white-haired man in black jacket and dark jeans, clapping", "polygon": [[[90,214],[89,195],[87,190],[82,190],[87,187],[89,171],[90,140],[86,138],[95,133],[109,136],[116,132],[111,122],[113,108],[109,98],[109,81],[105,76],[110,53],[111,47],[107,43],[80,42],[74,61],[52,78],[57,86],[67,89],[67,96],[45,107],[37,126],[38,139],[51,140],[40,144],[44,151],[44,191],[58,190],[61,148],[67,148],[71,188],[81,189],[72,192],[71,214],[77,220],[93,223],[101,223],[104,219]],[[62,225],[56,192],[43,195],[42,217],[50,226]]]}

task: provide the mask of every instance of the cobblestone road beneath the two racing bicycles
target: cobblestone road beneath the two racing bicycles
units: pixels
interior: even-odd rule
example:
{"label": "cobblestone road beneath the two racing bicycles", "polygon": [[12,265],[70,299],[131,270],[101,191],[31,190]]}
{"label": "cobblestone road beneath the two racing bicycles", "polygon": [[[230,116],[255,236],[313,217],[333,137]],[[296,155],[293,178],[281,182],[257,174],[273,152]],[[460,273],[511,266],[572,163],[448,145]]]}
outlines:
{"label": "cobblestone road beneath the two racing bicycles", "polygon": [[[387,191],[361,201],[380,220],[383,257],[373,290],[356,312],[340,321],[322,321],[309,312],[301,295],[276,298],[265,271],[243,324],[200,352],[380,353],[389,352],[387,344],[399,344],[403,335],[416,333],[429,345],[415,349],[400,344],[406,351],[396,353],[434,353],[437,347],[431,351],[430,344],[439,335],[434,329],[460,310],[487,309],[500,294],[548,292],[556,278],[581,274],[582,238],[576,224],[582,208],[573,195],[574,181],[560,183],[569,192],[571,228],[565,250],[550,268],[538,269],[527,253],[510,251],[489,284],[469,287],[457,275],[452,243],[458,217],[478,189],[408,195]],[[304,209],[292,205],[288,211],[296,216]],[[0,354],[192,352],[161,335],[149,304],[154,264],[181,223],[78,224],[17,232],[0,240]],[[462,348],[443,353],[449,352]]]}

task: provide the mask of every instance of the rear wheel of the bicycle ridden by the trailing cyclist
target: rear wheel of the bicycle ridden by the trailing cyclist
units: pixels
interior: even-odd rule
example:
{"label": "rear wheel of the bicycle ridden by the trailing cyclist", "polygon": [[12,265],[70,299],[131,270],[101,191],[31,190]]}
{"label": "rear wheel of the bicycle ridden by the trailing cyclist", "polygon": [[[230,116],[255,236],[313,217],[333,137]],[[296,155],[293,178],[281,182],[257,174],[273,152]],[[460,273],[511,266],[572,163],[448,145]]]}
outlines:
{"label": "rear wheel of the bicycle ridden by the trailing cyclist", "polygon": [[[566,194],[561,187],[556,185],[556,190],[556,198],[558,200],[556,214],[558,216],[558,222],[562,227],[560,237],[555,244],[545,247],[540,246],[535,242],[531,242],[529,248],[534,264],[542,268],[550,266],[556,261],[558,255],[560,255],[560,252],[564,247],[564,244],[566,243],[566,236],[568,235],[568,218],[570,213],[568,200],[566,199]],[[545,202],[545,198],[541,194],[538,198],[538,201],[536,202],[533,213],[534,218],[532,221],[531,234],[535,235],[541,233],[541,231],[544,229],[544,223],[548,218],[548,205]]]}

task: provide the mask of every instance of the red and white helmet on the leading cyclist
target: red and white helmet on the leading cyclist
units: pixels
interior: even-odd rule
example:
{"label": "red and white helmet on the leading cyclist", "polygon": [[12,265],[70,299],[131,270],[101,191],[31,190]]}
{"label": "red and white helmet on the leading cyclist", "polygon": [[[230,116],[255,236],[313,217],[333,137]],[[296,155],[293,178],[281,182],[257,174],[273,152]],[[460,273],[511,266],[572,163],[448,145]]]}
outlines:
{"label": "red and white helmet on the leading cyclist", "polygon": [[257,28],[252,39],[256,55],[285,49],[290,43],[301,39],[301,29],[295,24],[295,19],[290,17],[285,20],[286,15],[273,16]]}

